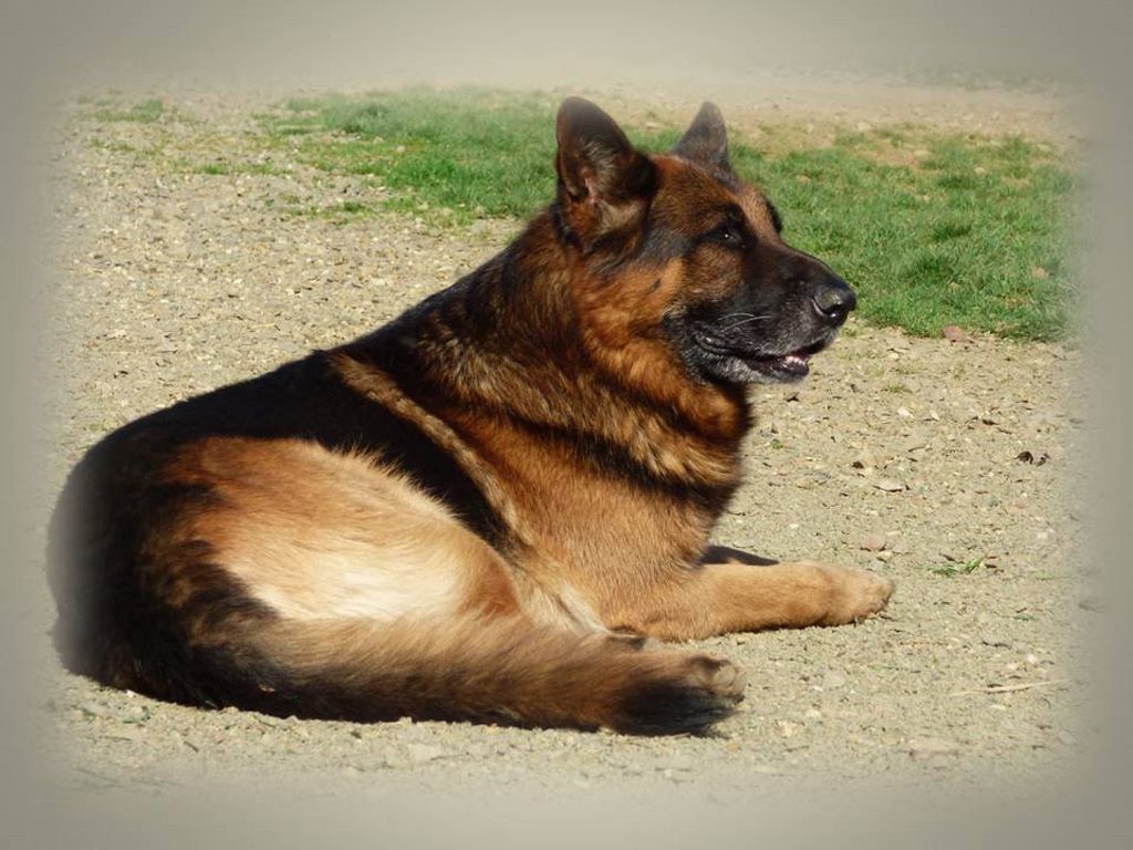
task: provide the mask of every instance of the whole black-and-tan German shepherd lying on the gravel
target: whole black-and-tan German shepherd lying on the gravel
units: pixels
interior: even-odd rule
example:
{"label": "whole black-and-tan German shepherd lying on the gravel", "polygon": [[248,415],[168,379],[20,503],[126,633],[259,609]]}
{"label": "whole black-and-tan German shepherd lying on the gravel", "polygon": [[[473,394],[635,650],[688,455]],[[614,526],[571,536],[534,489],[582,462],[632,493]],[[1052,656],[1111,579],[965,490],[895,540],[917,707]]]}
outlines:
{"label": "whole black-and-tan German shepherd lying on the gravel", "polygon": [[580,99],[556,133],[556,198],[480,269],[88,451],[49,545],[69,669],[283,716],[697,732],[743,677],[647,638],[885,605],[885,578],[707,545],[748,386],[806,376],[853,290],[783,241],[713,104],[664,155]]}

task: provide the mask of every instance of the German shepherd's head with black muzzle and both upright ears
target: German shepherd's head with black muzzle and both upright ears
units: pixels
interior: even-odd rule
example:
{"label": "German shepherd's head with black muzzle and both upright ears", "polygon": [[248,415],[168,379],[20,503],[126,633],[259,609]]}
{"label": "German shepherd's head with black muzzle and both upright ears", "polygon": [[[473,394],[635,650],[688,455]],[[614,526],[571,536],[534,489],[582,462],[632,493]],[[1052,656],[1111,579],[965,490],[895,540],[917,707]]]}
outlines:
{"label": "German shepherd's head with black muzzle and both upright ears", "polygon": [[560,232],[576,252],[577,301],[594,345],[657,348],[717,384],[799,381],[855,296],[789,246],[770,202],[732,170],[710,103],[664,155],[636,150],[610,116],[572,97],[559,111]]}

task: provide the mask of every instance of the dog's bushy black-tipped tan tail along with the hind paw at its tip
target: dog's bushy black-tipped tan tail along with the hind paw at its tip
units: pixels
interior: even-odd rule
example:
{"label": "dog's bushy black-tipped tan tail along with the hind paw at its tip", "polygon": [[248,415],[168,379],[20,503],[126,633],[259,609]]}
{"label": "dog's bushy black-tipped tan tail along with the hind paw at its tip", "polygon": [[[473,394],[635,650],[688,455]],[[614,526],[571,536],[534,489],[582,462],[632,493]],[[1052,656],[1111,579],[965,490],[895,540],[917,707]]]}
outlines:
{"label": "dog's bushy black-tipped tan tail along with the hind paw at its tip", "polygon": [[742,699],[726,661],[522,618],[278,620],[253,640],[271,664],[239,665],[254,682],[236,702],[273,714],[667,734],[705,730]]}

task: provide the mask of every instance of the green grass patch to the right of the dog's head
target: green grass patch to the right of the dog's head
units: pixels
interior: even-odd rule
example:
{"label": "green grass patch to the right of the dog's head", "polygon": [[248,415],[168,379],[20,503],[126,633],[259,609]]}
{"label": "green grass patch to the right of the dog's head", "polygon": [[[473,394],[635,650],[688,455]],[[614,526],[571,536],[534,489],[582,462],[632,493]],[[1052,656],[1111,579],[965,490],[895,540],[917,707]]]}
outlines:
{"label": "green grass patch to the right of the dog's head", "polygon": [[[929,155],[887,161],[912,145]],[[735,147],[738,169],[783,213],[784,236],[851,281],[869,321],[920,335],[949,324],[1066,334],[1074,184],[1038,145],[920,131],[885,145],[845,135],[774,159]]]}

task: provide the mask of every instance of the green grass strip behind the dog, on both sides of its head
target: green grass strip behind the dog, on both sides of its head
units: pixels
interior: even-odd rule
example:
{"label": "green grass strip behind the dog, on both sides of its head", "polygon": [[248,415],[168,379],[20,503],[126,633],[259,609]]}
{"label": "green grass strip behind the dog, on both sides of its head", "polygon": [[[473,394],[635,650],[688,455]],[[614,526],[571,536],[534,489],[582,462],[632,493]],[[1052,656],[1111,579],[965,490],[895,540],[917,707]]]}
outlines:
{"label": "green grass strip behind the dog, on both sides of its head", "polygon": [[[552,198],[559,100],[408,90],[292,100],[259,119],[269,144],[300,163],[372,176],[392,209],[459,226],[527,218]],[[627,129],[653,151],[680,133]],[[815,144],[798,127],[768,125],[733,133],[732,161],[775,202],[784,237],[858,289],[871,323],[920,335],[949,324],[1066,335],[1075,181],[1051,147],[915,126]]]}

